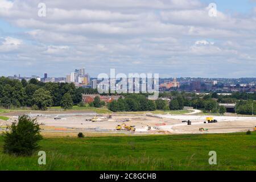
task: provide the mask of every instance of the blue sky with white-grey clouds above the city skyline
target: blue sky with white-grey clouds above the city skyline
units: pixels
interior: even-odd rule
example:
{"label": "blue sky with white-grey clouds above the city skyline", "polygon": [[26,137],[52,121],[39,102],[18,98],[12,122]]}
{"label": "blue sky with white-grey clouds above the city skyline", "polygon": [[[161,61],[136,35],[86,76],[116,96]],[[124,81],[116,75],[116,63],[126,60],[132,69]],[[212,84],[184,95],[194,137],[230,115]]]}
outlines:
{"label": "blue sky with white-grey clouds above the city skyline", "polygon": [[256,0],[0,0],[0,75],[80,67],[94,77],[256,77]]}

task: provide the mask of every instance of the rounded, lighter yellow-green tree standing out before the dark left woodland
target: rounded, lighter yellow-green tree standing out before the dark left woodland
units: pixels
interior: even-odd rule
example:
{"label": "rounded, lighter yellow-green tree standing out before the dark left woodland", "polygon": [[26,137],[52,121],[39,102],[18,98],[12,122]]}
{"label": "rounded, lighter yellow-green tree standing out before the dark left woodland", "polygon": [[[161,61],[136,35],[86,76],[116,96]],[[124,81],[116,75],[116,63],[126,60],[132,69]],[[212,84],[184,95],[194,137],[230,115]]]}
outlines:
{"label": "rounded, lighter yellow-green tree standing out before the dark left woodland", "polygon": [[46,110],[48,106],[52,105],[51,93],[44,89],[38,89],[33,94],[33,101],[40,110]]}

